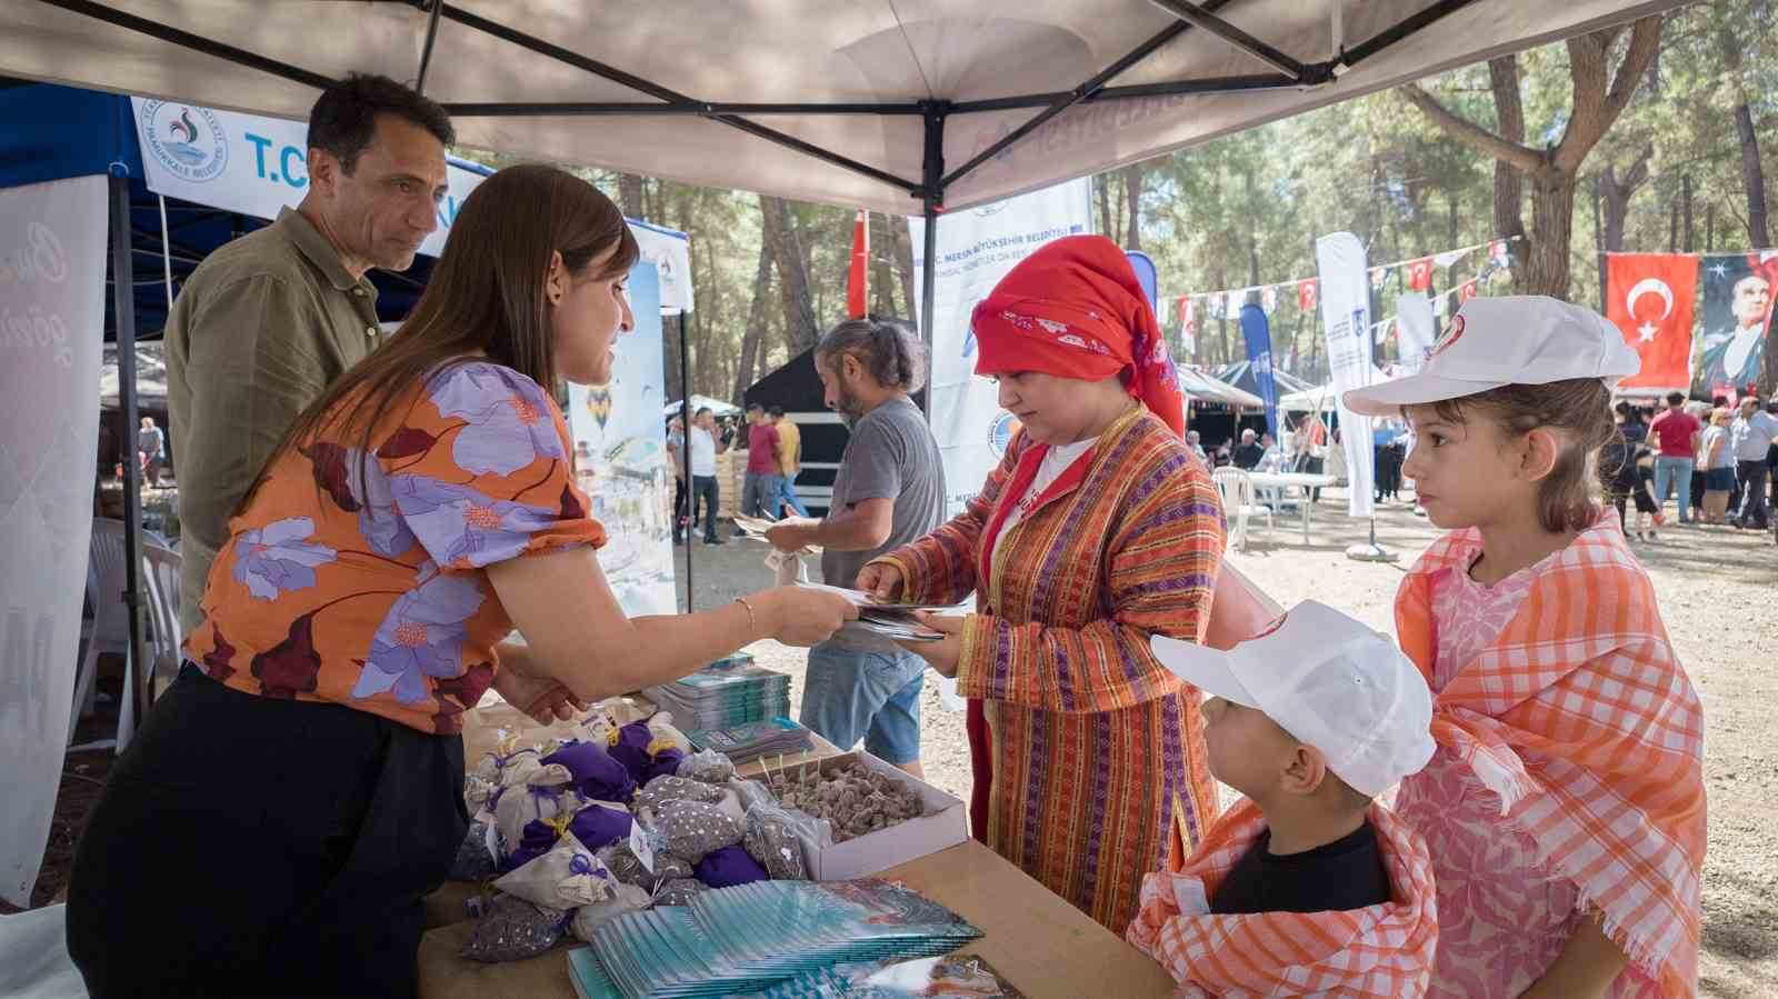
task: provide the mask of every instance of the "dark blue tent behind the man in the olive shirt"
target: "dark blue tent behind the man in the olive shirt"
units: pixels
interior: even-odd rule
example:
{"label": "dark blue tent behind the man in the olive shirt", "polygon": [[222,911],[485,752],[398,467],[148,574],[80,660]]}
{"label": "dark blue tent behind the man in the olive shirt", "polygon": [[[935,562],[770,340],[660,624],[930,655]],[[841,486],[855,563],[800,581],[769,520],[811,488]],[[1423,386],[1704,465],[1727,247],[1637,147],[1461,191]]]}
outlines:
{"label": "dark blue tent behind the man in the olive shirt", "polygon": [[[489,174],[464,160],[455,165]],[[52,180],[112,174],[130,178],[130,233],[135,274],[135,329],[139,340],[156,340],[167,324],[167,284],[162,260],[160,203],[142,183],[130,98],[50,84],[0,87],[0,188]],[[222,244],[267,224],[254,219],[167,199],[167,254],[172,293],[185,277]],[[107,286],[110,256],[107,254]],[[372,270],[377,313],[400,320],[412,308],[432,274],[432,258],[420,256],[404,274]],[[105,295],[105,340],[116,340],[112,295]]]}

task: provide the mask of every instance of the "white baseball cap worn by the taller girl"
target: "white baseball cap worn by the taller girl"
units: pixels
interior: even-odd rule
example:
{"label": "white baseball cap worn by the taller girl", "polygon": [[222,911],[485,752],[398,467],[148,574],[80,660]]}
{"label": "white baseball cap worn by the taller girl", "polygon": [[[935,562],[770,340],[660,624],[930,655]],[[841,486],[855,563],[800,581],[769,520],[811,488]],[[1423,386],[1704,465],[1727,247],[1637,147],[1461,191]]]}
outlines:
{"label": "white baseball cap worn by the taller girl", "polygon": [[1419,373],[1348,391],[1346,409],[1396,416],[1403,405],[1444,402],[1501,386],[1602,379],[1611,388],[1643,366],[1611,320],[1561,299],[1470,299],[1426,352]]}

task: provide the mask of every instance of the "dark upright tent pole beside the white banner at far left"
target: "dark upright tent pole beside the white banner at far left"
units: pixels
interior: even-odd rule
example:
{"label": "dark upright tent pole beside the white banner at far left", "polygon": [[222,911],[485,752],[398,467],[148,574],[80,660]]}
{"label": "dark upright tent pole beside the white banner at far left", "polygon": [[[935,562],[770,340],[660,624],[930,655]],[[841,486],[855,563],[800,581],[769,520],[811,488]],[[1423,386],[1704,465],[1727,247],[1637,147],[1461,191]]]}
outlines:
{"label": "dark upright tent pole beside the white banner at far left", "polygon": [[[135,665],[135,690],[124,697],[135,699],[135,716],[140,725],[148,718],[148,695],[153,690],[142,656],[142,466],[135,455],[135,265],[130,252],[130,178],[112,176],[110,185],[110,251],[112,251],[112,306],[117,313],[117,420],[123,423],[117,443],[123,446],[123,606],[130,615],[130,663]],[[101,599],[105,594],[100,594]],[[117,747],[123,750],[123,747]]]}

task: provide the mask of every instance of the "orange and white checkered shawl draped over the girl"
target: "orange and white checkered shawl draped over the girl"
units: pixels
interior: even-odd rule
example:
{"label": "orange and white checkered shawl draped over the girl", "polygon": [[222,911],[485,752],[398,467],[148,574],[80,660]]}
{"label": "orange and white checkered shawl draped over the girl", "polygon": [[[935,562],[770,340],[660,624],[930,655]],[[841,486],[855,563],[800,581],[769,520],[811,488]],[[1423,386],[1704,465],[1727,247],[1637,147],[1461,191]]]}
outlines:
{"label": "orange and white checkered shawl draped over the girl", "polygon": [[[1435,542],[1401,583],[1401,649],[1433,677],[1433,579],[1474,530]],[[1654,587],[1600,515],[1533,585],[1494,645],[1433,702],[1433,738],[1501,796],[1554,876],[1670,995],[1698,979],[1703,711]]]}

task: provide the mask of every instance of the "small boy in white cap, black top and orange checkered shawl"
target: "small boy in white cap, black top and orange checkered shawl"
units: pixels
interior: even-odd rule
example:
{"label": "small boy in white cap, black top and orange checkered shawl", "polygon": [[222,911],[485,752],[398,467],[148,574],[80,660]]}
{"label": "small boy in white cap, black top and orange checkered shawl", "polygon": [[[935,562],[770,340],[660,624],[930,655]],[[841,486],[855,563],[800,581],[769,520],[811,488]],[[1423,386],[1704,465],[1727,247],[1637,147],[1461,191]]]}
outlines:
{"label": "small boy in white cap, black top and orange checkered shawl", "polygon": [[1149,875],[1127,939],[1186,995],[1421,995],[1431,860],[1376,796],[1433,755],[1431,693],[1387,636],[1305,601],[1218,652],[1154,654],[1213,695],[1209,766],[1246,798]]}

